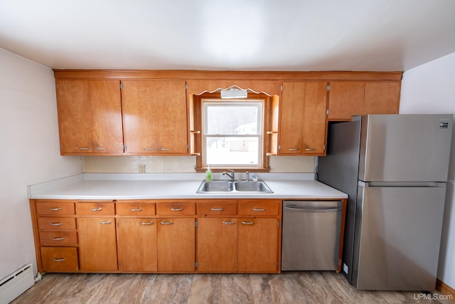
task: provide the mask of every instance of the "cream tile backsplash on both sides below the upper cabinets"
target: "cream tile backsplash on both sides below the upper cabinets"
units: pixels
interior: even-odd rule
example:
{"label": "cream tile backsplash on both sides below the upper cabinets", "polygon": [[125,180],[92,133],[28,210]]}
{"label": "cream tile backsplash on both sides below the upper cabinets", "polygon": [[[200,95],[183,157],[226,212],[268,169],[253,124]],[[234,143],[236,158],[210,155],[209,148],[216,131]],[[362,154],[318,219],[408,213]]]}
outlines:
{"label": "cream tile backsplash on both sides below the upper cabinets", "polygon": [[[270,172],[314,172],[315,157],[270,157]],[[195,172],[195,156],[85,156],[85,173]]]}

